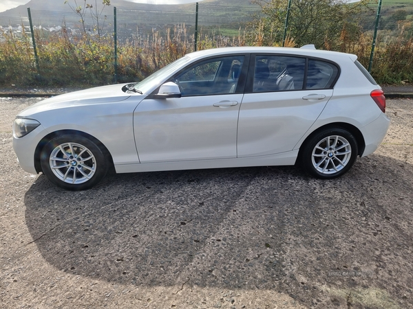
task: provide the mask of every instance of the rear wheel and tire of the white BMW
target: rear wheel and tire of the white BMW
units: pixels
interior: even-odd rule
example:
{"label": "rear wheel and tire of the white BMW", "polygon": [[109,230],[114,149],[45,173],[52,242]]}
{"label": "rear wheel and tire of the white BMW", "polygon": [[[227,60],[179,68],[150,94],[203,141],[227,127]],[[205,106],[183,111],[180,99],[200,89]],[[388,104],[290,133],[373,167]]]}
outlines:
{"label": "rear wheel and tire of the white BMW", "polygon": [[329,128],[306,141],[300,161],[309,174],[332,179],[350,170],[357,154],[357,141],[348,130]]}

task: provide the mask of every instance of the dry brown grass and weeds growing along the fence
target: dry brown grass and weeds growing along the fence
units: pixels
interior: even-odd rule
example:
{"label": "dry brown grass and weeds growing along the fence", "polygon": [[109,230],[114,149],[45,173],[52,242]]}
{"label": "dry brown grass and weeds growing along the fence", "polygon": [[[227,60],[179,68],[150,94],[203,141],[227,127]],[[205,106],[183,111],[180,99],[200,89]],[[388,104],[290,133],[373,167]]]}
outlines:
{"label": "dry brown grass and weeds growing along the fence", "polygon": [[[271,35],[264,33],[263,29],[258,27],[253,32],[240,30],[233,36],[220,34],[220,30],[200,30],[198,49],[261,46],[266,36]],[[114,82],[112,37],[90,41],[85,36],[71,36],[65,27],[55,34],[36,30],[35,35],[40,72],[34,65],[28,34],[22,32],[17,37],[6,31],[0,33],[0,84],[96,85]],[[118,46],[118,81],[142,80],[153,71],[193,51],[193,41],[193,35],[187,34],[185,25],[169,28],[167,34],[153,31],[123,41]],[[282,42],[273,43],[273,46],[280,45]],[[360,62],[368,67],[371,45],[372,32],[350,33],[342,30],[337,45],[324,48],[357,54]],[[285,46],[294,47],[294,38],[287,38]],[[379,83],[413,82],[411,27],[403,25],[400,29],[379,32],[372,75]]]}

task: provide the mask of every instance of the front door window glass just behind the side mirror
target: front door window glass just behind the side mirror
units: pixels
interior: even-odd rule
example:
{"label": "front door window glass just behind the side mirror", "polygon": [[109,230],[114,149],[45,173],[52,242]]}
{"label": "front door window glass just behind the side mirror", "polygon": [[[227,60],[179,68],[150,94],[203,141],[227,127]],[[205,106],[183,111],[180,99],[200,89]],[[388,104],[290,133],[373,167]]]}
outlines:
{"label": "front door window glass just behind the side mirror", "polygon": [[235,93],[244,56],[227,56],[198,62],[182,71],[173,82],[182,96]]}

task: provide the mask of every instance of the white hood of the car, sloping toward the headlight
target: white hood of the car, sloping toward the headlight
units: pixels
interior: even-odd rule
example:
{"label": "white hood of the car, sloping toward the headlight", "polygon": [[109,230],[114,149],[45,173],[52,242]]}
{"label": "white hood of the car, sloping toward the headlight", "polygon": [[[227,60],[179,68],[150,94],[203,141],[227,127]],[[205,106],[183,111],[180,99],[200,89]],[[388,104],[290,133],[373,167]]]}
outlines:
{"label": "white hood of the car, sloping toward the headlight", "polygon": [[[128,83],[130,84],[130,83]],[[96,87],[81,91],[56,95],[56,97],[48,98],[32,106],[29,106],[24,111],[19,113],[21,117],[27,117],[41,111],[51,109],[65,108],[69,106],[105,104],[111,102],[120,102],[131,96],[131,93],[122,91],[125,84],[113,84],[110,86]]]}

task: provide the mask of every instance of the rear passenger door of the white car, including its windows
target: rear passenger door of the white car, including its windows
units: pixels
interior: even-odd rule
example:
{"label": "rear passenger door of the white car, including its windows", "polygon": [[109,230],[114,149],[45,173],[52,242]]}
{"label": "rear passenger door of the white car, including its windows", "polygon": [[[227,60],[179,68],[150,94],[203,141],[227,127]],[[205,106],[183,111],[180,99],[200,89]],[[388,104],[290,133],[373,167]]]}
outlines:
{"label": "rear passenger door of the white car, including its windows", "polygon": [[288,55],[251,57],[240,108],[237,157],[293,150],[332,96],[339,68]]}

